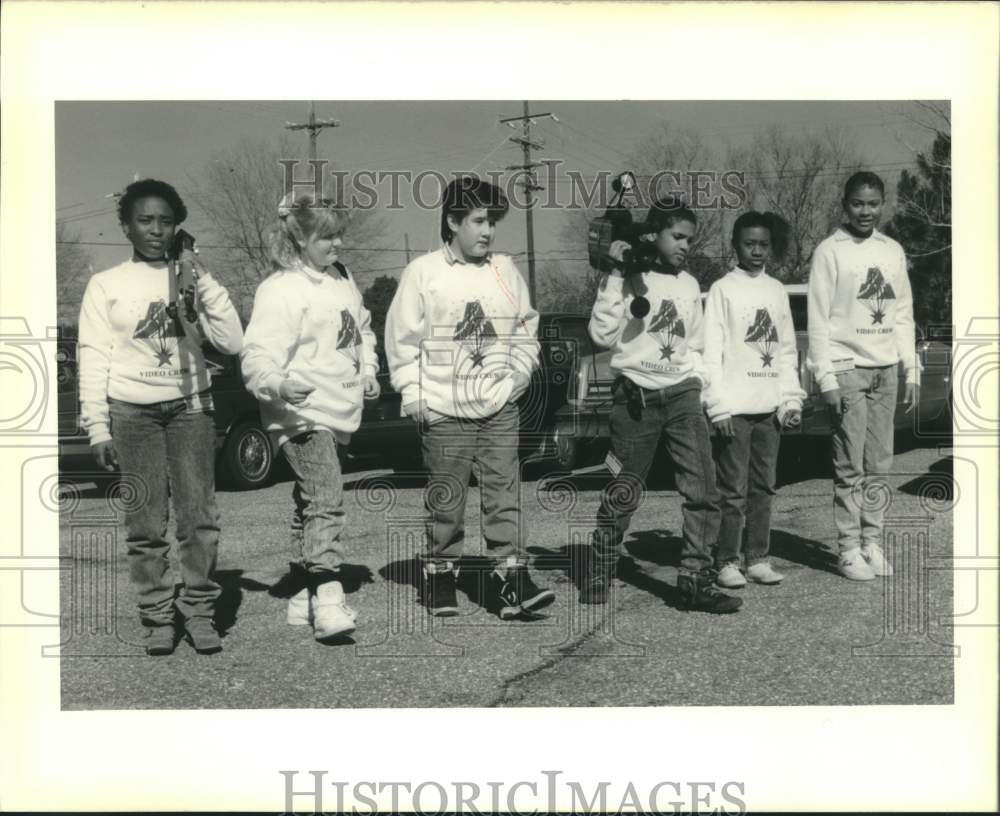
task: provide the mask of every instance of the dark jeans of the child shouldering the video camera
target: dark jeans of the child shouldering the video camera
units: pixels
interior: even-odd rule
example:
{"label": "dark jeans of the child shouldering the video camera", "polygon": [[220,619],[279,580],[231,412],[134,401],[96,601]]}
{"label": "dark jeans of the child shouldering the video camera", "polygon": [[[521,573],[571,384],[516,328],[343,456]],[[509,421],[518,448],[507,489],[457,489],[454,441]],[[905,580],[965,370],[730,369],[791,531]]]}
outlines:
{"label": "dark jeans of the child shouldering the video camera", "polygon": [[661,440],[674,463],[677,490],[684,498],[681,571],[712,568],[719,534],[719,494],[708,420],[701,407],[701,385],[688,379],[645,393],[645,406],[629,404],[624,377],[615,382],[611,408],[611,453],[621,471],[605,487],[593,535],[595,555],[614,560],[629,522],[645,492],[646,476]]}

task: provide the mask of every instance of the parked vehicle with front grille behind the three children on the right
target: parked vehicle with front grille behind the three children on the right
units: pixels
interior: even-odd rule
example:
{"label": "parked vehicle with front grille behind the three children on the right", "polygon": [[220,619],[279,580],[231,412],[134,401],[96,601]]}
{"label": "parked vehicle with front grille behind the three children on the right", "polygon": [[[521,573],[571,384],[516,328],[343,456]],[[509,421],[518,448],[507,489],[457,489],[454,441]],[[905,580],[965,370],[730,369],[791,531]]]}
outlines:
{"label": "parked vehicle with front grille behind the three children on the right", "polygon": [[[815,438],[829,436],[831,426],[818,384],[806,367],[807,289],[806,284],[785,285],[798,346],[799,381],[806,392],[801,428],[785,433]],[[581,353],[574,361],[570,393],[566,405],[556,413],[554,431],[556,461],[567,470],[601,461],[607,454],[611,435],[608,420],[614,382],[610,370],[612,353],[595,346],[589,336],[587,343],[579,347]],[[917,413],[906,413],[904,389],[900,387],[896,429],[916,428],[922,434],[933,431],[945,436],[951,431],[951,344],[947,338],[938,336],[925,339],[918,330],[917,354],[924,367]]]}

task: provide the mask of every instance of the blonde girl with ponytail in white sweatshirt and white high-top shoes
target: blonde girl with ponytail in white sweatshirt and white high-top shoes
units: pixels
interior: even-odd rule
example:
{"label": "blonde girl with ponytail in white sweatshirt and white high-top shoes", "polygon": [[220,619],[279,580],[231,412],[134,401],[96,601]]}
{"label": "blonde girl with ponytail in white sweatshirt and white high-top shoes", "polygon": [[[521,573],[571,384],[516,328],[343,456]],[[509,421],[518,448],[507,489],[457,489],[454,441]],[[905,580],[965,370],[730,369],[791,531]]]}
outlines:
{"label": "blonde girl with ponytail in white sweatshirt and white high-top shoes", "polygon": [[346,215],[311,195],[286,195],[271,241],[275,271],[257,288],[241,355],[247,389],[295,474],[292,546],[306,586],[288,603],[292,625],[317,640],[351,634],[339,569],[344,527],[337,445],[378,396],[371,316],[338,260]]}

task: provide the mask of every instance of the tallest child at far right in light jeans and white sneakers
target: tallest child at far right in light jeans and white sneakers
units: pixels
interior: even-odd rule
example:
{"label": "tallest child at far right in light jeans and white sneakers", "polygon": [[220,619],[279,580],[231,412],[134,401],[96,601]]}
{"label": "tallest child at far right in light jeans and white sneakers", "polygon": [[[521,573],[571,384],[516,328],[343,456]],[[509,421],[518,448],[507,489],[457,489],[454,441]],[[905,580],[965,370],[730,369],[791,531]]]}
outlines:
{"label": "tallest child at far right in light jeans and white sneakers", "polygon": [[877,229],[885,185],[855,173],[844,187],[845,224],[813,253],[808,364],[833,424],[839,569],[870,581],[892,575],[882,551],[884,475],[892,466],[902,363],[907,412],[917,404],[919,363],[906,256]]}

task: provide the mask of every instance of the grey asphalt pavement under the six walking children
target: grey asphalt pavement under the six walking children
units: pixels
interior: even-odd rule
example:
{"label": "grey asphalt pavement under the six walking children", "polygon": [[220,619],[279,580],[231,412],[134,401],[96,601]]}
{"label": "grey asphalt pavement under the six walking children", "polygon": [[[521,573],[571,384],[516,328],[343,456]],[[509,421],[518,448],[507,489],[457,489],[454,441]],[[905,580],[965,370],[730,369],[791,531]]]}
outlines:
{"label": "grey asphalt pavement under the six walking children", "polygon": [[[809,472],[810,468],[812,472]],[[603,607],[577,602],[570,564],[593,526],[603,468],[522,483],[538,583],[556,602],[501,622],[479,603],[485,565],[463,571],[460,615],[430,619],[411,560],[422,530],[418,474],[345,476],[352,640],[317,643],[285,623],[291,483],[220,492],[218,621],[224,651],[181,643],[145,656],[125,561],[120,502],[84,487],[67,502],[61,544],[64,709],[436,706],[885,705],[953,701],[951,458],[897,454],[886,509],[892,579],[835,572],[828,466],[785,473],[774,505],[776,587],[734,591],[736,614],[678,607],[680,498],[654,479],[636,513],[628,560]],[[479,492],[467,546],[479,550]]]}

